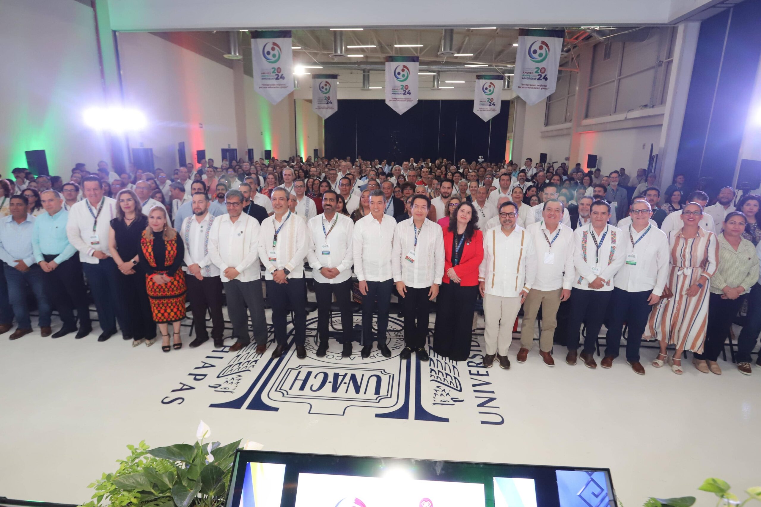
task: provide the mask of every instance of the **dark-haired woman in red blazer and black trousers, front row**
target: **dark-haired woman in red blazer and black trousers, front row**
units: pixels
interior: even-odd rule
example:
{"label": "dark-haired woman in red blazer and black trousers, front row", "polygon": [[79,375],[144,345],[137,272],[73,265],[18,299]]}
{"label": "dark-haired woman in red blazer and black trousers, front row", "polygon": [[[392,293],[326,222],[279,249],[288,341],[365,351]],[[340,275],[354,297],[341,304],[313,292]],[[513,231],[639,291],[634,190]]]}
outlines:
{"label": "dark-haired woman in red blazer and black trousers, front row", "polygon": [[465,361],[470,356],[473,312],[478,297],[482,232],[473,204],[462,202],[444,227],[444,279],[438,292],[433,349],[439,356]]}

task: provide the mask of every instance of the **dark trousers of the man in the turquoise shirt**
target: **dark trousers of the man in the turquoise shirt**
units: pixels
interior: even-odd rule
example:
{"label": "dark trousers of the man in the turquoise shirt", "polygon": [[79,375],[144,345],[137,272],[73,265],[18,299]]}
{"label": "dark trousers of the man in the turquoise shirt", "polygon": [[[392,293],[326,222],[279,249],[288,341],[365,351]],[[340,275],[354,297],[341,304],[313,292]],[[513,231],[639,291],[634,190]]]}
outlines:
{"label": "dark trousers of the man in the turquoise shirt", "polygon": [[[45,262],[49,263],[58,256],[43,255],[43,257],[45,257]],[[84,287],[82,263],[79,262],[77,254],[60,263],[50,273],[43,272],[43,282],[45,292],[50,296],[51,302],[58,310],[65,329],[77,327],[74,318],[75,308],[79,326],[82,329],[91,327],[88,289]]]}

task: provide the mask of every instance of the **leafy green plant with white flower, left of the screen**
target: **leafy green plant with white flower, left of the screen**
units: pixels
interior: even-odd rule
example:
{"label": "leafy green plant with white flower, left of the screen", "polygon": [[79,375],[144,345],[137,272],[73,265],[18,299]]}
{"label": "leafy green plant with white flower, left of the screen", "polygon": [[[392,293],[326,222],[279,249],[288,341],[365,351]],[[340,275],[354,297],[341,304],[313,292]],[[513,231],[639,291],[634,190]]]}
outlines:
{"label": "leafy green plant with white flower, left of the screen", "polygon": [[96,493],[82,507],[221,507],[240,440],[204,443],[209,435],[211,429],[202,421],[193,445],[128,445],[132,454],[117,461],[119,470],[88,486]]}

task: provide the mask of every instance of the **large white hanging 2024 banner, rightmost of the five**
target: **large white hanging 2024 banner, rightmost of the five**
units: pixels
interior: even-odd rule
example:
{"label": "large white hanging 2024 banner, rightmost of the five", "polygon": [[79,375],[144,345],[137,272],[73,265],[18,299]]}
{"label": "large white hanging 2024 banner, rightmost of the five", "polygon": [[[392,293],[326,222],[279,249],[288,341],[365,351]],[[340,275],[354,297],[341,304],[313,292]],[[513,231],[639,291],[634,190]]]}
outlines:
{"label": "large white hanging 2024 banner, rightmost of the five", "polygon": [[526,101],[537,104],[555,91],[564,30],[518,30],[513,90]]}

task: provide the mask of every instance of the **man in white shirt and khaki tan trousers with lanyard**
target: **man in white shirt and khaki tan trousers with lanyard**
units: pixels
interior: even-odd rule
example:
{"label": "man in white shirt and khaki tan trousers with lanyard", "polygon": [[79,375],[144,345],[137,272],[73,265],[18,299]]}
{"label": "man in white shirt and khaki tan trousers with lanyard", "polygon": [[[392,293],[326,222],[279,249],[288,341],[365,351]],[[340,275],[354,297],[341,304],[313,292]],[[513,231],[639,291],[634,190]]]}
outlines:
{"label": "man in white shirt and khaki tan trousers with lanyard", "polygon": [[534,222],[526,230],[537,252],[537,277],[524,301],[524,318],[521,324],[521,349],[517,362],[526,362],[533,346],[533,328],[539,309],[542,309],[542,334],[539,353],[544,364],[554,366],[552,341],[557,327],[558,308],[571,297],[574,265],[574,232],[560,223],[563,205],[558,199],[543,203],[542,221]]}

